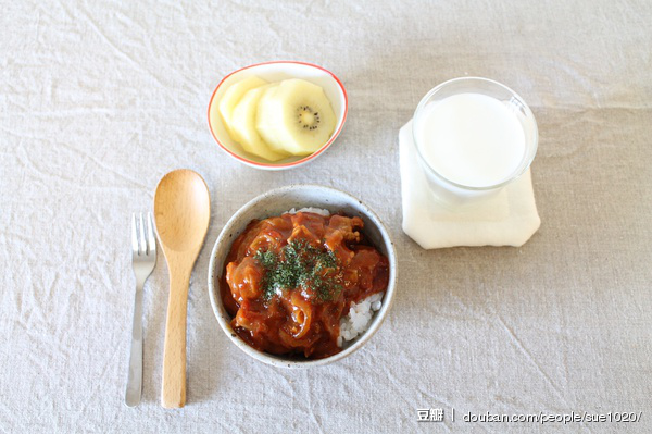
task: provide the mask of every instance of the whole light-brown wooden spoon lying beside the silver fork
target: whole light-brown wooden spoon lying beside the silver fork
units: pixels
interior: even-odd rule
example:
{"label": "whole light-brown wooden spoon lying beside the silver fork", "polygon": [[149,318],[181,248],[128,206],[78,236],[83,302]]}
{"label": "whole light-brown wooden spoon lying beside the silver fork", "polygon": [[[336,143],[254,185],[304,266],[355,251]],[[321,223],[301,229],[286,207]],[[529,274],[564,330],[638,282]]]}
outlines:
{"label": "whole light-brown wooden spoon lying beside the silver fork", "polygon": [[211,198],[202,177],[187,169],[163,176],[154,195],[154,220],[170,271],[161,405],[180,408],[186,404],[188,286],[211,220]]}

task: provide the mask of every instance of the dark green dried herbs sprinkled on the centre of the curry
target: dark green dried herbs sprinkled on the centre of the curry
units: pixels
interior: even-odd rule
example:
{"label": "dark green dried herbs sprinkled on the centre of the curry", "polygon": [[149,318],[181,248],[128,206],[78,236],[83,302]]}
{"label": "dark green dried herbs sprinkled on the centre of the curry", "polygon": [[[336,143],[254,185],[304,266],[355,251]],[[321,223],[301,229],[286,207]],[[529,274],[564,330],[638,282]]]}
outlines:
{"label": "dark green dried herbs sprinkled on the centre of the curry", "polygon": [[285,290],[304,289],[310,297],[333,300],[341,293],[341,273],[335,253],[305,240],[292,240],[278,253],[259,249],[254,257],[265,269],[264,298]]}

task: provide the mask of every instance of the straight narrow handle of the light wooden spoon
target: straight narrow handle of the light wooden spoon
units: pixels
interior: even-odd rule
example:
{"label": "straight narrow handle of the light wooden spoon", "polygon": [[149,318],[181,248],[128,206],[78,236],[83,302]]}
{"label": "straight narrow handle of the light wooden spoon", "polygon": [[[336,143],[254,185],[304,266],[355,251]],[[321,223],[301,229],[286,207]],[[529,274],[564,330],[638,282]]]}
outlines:
{"label": "straight narrow handle of the light wooden spoon", "polygon": [[161,405],[165,408],[180,408],[186,405],[186,318],[189,284],[189,271],[170,269],[161,392]]}

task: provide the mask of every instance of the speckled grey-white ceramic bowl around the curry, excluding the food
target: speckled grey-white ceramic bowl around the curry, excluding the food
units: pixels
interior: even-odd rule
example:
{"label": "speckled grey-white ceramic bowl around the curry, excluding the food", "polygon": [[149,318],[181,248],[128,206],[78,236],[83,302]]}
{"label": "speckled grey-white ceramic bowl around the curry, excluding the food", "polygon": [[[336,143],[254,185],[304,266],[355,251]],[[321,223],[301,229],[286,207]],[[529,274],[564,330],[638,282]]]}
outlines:
{"label": "speckled grey-white ceramic bowl around the curry, excluding the food", "polygon": [[[250,347],[234,332],[230,326],[231,317],[228,314],[220,297],[220,280],[224,272],[224,260],[228,255],[233,241],[247,227],[253,219],[265,219],[279,215],[292,208],[314,207],[327,209],[331,212],[343,211],[347,215],[359,215],[364,221],[364,234],[374,246],[389,260],[389,285],[383,298],[383,307],[374,313],[368,330],[352,340],[344,344],[342,351],[337,355],[318,360],[305,360],[296,357],[274,356]],[[361,200],[343,191],[318,185],[292,185],[267,191],[249,203],[244,204],[226,223],[215,241],[209,265],[209,296],[215,312],[215,318],[226,336],[242,351],[256,360],[280,368],[308,368],[317,367],[341,360],[362,348],[362,346],[380,327],[383,320],[391,307],[397,285],[397,253],[387,230],[380,219]]]}

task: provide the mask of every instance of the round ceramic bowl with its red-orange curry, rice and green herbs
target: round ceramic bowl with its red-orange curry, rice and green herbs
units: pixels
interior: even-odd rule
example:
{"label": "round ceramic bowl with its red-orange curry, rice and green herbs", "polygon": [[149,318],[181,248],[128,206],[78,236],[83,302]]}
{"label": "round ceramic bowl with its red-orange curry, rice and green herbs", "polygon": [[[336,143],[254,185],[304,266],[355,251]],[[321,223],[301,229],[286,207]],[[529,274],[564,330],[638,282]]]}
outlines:
{"label": "round ceramic bowl with its red-orange curry, rice and green herbs", "polygon": [[379,328],[397,283],[393,244],[361,200],[294,185],[244,204],[222,230],[209,296],[228,338],[283,368],[323,365]]}

